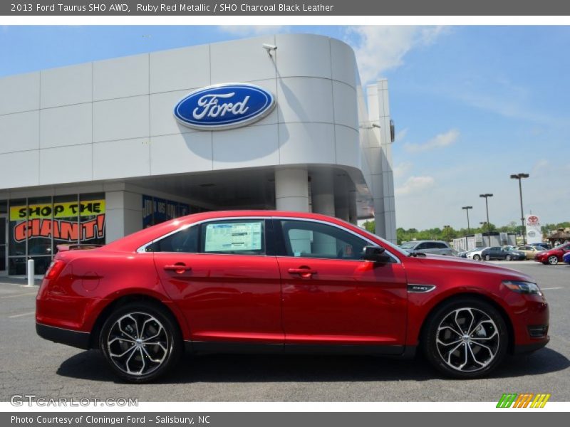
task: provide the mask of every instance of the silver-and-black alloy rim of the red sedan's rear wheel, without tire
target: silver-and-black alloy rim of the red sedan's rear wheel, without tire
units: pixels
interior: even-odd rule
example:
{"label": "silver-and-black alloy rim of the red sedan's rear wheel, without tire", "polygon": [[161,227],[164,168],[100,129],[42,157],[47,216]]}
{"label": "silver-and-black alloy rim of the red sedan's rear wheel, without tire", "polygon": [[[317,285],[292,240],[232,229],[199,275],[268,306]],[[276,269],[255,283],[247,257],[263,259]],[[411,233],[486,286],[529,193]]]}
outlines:
{"label": "silver-and-black alloy rim of the red sedan's rear wheel, without tire", "polygon": [[169,344],[162,324],[156,317],[143,312],[120,317],[107,337],[108,354],[113,364],[135,376],[158,369],[168,355]]}

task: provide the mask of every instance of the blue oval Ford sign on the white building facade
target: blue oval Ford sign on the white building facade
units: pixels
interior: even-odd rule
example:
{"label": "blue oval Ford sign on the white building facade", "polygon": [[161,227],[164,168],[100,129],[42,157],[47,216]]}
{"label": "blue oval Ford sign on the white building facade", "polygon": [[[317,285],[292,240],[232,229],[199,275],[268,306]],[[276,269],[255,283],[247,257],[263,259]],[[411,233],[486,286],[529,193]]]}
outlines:
{"label": "blue oval Ford sign on the white building facade", "polygon": [[227,83],[190,93],[174,108],[183,125],[199,130],[224,130],[251,125],[275,107],[271,93],[256,85]]}

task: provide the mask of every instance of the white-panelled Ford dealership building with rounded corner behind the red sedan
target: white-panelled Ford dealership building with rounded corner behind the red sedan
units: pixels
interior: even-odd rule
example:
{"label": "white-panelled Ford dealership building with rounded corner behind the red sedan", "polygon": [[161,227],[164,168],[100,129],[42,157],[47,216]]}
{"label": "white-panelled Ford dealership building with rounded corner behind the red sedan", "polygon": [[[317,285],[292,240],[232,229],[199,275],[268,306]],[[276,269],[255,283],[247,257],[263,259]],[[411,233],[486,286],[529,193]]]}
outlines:
{"label": "white-panelled Ford dealership building with rounded corner behind the red sedan", "polygon": [[284,34],[0,78],[0,275],[227,209],[375,218],[395,242],[385,80]]}

